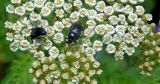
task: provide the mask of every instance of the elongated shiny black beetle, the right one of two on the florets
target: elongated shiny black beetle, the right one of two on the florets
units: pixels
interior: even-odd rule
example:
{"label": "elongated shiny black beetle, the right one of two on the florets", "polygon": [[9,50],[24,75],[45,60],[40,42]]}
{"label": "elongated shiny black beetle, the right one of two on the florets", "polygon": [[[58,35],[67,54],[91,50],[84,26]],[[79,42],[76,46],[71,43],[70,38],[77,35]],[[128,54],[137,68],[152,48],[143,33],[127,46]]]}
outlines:
{"label": "elongated shiny black beetle, the right one of two on the florets", "polygon": [[83,28],[80,22],[73,23],[68,34],[67,43],[76,43],[78,38],[81,36],[82,31]]}

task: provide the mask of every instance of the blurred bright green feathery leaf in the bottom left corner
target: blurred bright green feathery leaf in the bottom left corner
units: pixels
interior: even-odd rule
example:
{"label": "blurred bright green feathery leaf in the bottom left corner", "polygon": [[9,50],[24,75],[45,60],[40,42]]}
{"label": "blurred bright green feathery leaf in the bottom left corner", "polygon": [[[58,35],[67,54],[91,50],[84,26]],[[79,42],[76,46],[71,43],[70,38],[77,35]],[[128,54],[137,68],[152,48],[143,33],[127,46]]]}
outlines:
{"label": "blurred bright green feathery leaf in the bottom left corner", "polygon": [[30,54],[17,54],[0,84],[31,84],[32,76],[28,72],[31,67],[33,57]]}

